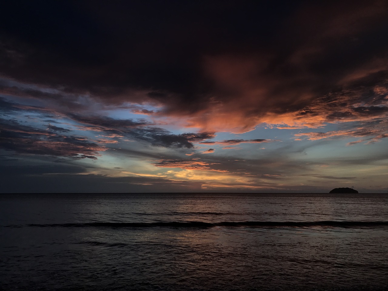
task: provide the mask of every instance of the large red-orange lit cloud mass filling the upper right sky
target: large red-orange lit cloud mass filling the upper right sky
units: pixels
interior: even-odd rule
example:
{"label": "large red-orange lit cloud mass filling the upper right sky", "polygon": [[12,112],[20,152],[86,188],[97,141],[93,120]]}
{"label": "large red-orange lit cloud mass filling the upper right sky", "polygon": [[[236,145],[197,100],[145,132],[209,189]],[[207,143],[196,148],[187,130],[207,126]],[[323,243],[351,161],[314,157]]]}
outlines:
{"label": "large red-orange lit cloud mass filling the upper right sky", "polygon": [[[300,9],[290,26],[298,29],[300,38],[290,31],[290,39],[282,39],[290,42],[287,54],[261,46],[255,53],[204,56],[203,74],[211,92],[197,100],[196,110],[166,104],[160,114],[184,117],[185,126],[204,132],[233,133],[248,132],[261,123],[296,129],[386,118],[387,112],[377,114],[364,101],[374,90],[382,96],[373,106],[386,106],[388,59],[372,53],[350,59],[348,49],[338,44],[346,40],[352,45],[354,39],[354,45],[360,46],[357,37],[385,23],[387,4],[338,5],[342,9],[329,3]],[[375,114],[362,113],[362,106]]]}

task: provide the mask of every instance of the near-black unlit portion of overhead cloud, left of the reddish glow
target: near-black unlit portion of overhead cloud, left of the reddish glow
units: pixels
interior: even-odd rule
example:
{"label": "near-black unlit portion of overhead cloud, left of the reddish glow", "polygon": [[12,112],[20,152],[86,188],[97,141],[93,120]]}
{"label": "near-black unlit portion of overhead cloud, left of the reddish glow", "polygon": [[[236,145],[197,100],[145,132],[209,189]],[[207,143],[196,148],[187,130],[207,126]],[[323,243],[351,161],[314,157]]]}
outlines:
{"label": "near-black unlit portion of overhead cloud, left of the reddish glow", "polygon": [[[18,50],[19,46],[3,42],[8,59],[19,56],[24,62],[40,65],[41,76],[36,80],[55,83],[66,79],[70,87],[81,88],[87,85],[120,90],[132,84],[191,92],[189,89],[196,87],[193,69],[199,54],[225,47],[235,49],[234,43],[246,42],[245,38],[270,38],[292,6],[156,1],[22,5],[16,1],[4,4],[2,11],[13,11],[13,17],[2,13],[0,27],[8,42],[12,36],[31,47],[33,57],[25,53],[25,48]],[[269,16],[269,11],[274,13]],[[264,25],[269,31],[263,29]],[[58,73],[49,72],[48,63],[53,62],[59,65]],[[66,63],[78,67],[79,70],[72,70],[75,75],[67,71]],[[95,66],[106,68],[109,74],[95,71],[93,77],[89,76]],[[11,64],[8,69],[16,74]],[[19,74],[27,77],[31,72]],[[80,75],[84,80],[80,81]]]}

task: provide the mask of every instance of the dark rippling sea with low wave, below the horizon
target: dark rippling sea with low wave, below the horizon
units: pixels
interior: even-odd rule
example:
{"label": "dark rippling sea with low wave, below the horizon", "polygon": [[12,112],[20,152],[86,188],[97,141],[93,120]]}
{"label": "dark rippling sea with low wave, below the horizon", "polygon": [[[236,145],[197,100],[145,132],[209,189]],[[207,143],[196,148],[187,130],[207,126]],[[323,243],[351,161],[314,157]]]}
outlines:
{"label": "dark rippling sea with low wave, below the horizon", "polygon": [[388,194],[0,194],[0,290],[388,290]]}

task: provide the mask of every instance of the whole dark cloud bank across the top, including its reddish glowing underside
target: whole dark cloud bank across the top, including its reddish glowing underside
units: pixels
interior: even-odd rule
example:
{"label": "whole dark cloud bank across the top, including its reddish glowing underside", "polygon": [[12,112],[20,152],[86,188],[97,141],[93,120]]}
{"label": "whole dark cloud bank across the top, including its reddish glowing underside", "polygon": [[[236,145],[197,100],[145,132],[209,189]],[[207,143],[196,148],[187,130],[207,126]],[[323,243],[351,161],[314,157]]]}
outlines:
{"label": "whole dark cloud bank across the top, including its reddish glowing underside", "polygon": [[163,108],[149,114],[244,132],[360,76],[382,80],[387,11],[385,1],[8,2],[0,62],[15,80],[106,103],[154,100]]}

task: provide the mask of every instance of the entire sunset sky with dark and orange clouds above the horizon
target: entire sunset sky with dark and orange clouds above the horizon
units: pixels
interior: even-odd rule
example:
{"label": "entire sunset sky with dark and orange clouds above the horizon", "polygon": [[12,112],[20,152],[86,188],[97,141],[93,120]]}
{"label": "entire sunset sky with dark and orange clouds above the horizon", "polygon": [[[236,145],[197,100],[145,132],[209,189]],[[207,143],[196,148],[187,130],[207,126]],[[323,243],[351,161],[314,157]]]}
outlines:
{"label": "entire sunset sky with dark and orange clouds above the horizon", "polygon": [[387,1],[8,1],[0,192],[388,192]]}

